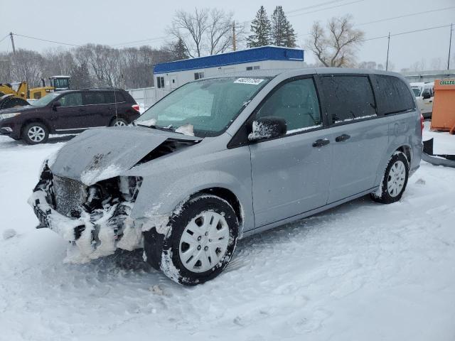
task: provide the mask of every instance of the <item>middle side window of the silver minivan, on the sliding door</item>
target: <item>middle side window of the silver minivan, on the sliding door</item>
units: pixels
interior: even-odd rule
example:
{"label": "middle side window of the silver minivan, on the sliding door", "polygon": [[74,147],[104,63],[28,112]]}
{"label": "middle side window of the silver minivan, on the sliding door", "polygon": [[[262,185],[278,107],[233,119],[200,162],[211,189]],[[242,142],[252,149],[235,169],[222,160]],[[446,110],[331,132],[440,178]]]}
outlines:
{"label": "middle side window of the silver minivan, on the sliding door", "polygon": [[321,77],[332,123],[376,115],[375,97],[367,76]]}

